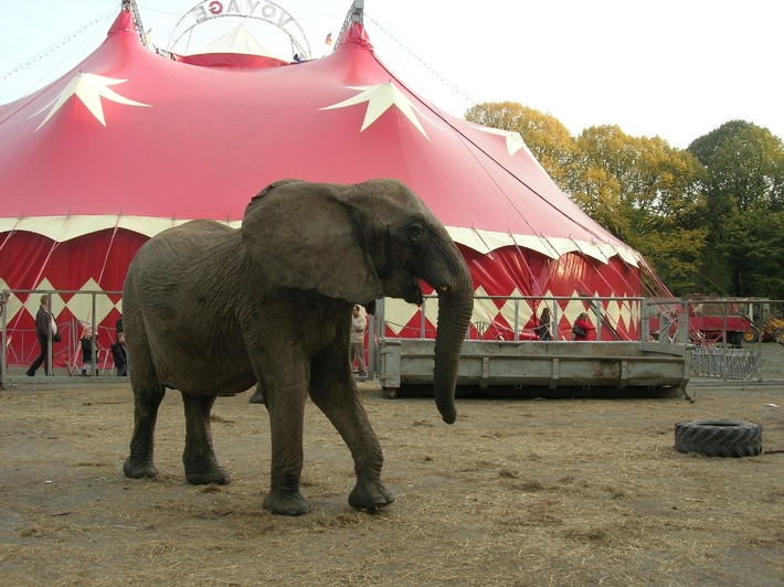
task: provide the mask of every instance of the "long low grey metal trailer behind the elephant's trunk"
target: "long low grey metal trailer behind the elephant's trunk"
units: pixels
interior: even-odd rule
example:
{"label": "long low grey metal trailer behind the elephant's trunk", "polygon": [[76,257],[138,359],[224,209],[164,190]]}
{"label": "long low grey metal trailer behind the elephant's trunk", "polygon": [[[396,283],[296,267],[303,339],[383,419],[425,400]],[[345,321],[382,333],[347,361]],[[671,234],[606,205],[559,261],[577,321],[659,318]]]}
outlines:
{"label": "long low grey metal trailer behind the elephant's trunk", "polygon": [[[379,340],[389,397],[432,394],[435,341]],[[691,346],[659,342],[465,341],[458,394],[488,396],[686,395]]]}

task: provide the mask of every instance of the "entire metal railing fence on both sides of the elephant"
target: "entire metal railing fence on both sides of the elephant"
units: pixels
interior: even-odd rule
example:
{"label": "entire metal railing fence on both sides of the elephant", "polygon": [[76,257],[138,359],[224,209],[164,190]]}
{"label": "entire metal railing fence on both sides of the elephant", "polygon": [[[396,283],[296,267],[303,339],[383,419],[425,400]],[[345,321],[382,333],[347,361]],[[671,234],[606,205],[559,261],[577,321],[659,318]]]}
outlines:
{"label": "entire metal railing fence on both sides of the elephant", "polygon": [[[53,308],[55,317],[67,316],[67,320],[57,321],[64,344],[55,346],[54,355],[47,357],[52,361],[50,364],[64,364],[68,372],[81,365],[78,341],[84,325],[91,324],[95,332],[92,372],[112,373],[114,363],[109,348],[115,330],[114,324],[103,322],[110,312],[117,310],[115,313],[118,314],[121,310],[119,302],[110,299],[119,299],[120,292],[6,290],[0,292],[0,309],[3,310],[0,319],[0,381],[6,380],[9,362],[14,365],[29,364],[39,353],[34,329],[18,328],[15,323],[19,320],[8,320],[8,317],[24,311],[34,317],[41,294],[56,300]],[[596,327],[597,341],[655,340],[693,344],[691,364],[695,376],[739,381],[784,380],[784,300],[476,296],[472,328],[466,338],[513,342],[534,340],[531,325],[536,324],[536,309],[544,306],[553,313],[553,324],[561,327],[561,337],[553,342],[568,340],[570,324],[578,313],[584,311]],[[68,312],[63,314],[65,308]],[[436,309],[437,298],[426,296],[417,309],[420,318],[410,320],[410,323],[421,325],[406,335],[432,338],[435,330],[427,324],[435,323]],[[385,333],[382,301],[375,319],[370,323],[368,340],[375,341]],[[369,344],[368,354],[368,364],[372,369],[377,359],[374,344]]]}

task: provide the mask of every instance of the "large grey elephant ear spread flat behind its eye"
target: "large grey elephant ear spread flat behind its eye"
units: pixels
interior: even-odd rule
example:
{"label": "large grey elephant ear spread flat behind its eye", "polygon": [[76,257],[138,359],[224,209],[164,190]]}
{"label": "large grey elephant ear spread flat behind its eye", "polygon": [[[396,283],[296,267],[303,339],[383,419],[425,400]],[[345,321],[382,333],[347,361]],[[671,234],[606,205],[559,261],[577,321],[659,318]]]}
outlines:
{"label": "large grey elephant ear spread flat behind its eye", "polygon": [[300,180],[269,184],[245,210],[246,250],[283,287],[349,302],[381,298],[372,228],[351,203],[351,189]]}

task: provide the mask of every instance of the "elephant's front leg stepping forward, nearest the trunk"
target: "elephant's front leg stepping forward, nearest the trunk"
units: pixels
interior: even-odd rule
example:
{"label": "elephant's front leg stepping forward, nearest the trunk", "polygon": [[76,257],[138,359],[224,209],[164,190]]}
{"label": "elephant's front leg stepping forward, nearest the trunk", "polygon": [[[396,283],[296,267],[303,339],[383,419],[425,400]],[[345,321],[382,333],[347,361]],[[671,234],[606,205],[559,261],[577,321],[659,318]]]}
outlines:
{"label": "elephant's front leg stepping forward, nearest the trunk", "polygon": [[[335,369],[335,365],[341,364],[347,365],[345,370]],[[384,461],[381,444],[370,425],[348,365],[343,354],[317,360],[310,397],[351,450],[357,484],[349,494],[349,505],[358,510],[375,510],[392,503],[394,495],[381,482]]]}

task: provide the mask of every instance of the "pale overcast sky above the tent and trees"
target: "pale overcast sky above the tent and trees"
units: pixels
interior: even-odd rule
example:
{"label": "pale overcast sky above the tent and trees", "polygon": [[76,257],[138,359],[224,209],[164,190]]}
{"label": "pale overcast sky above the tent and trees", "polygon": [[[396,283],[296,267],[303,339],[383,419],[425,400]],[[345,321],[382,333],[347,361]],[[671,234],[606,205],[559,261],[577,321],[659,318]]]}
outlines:
{"label": "pale overcast sky above the tent and trees", "polygon": [[[222,1],[244,8],[257,0]],[[182,30],[180,18],[201,3],[138,0],[145,29],[163,49]],[[315,57],[329,51],[325,38],[337,38],[351,7],[350,0],[277,3],[301,25]],[[0,104],[56,79],[93,52],[119,7],[119,0],[2,0]],[[364,12],[382,61],[457,116],[474,103],[510,100],[553,115],[572,135],[612,124],[686,148],[743,119],[784,137],[784,1],[364,0]],[[224,25],[194,32],[212,39]],[[252,30],[273,45],[283,39],[290,53],[273,26]],[[197,38],[180,52],[194,52]]]}

